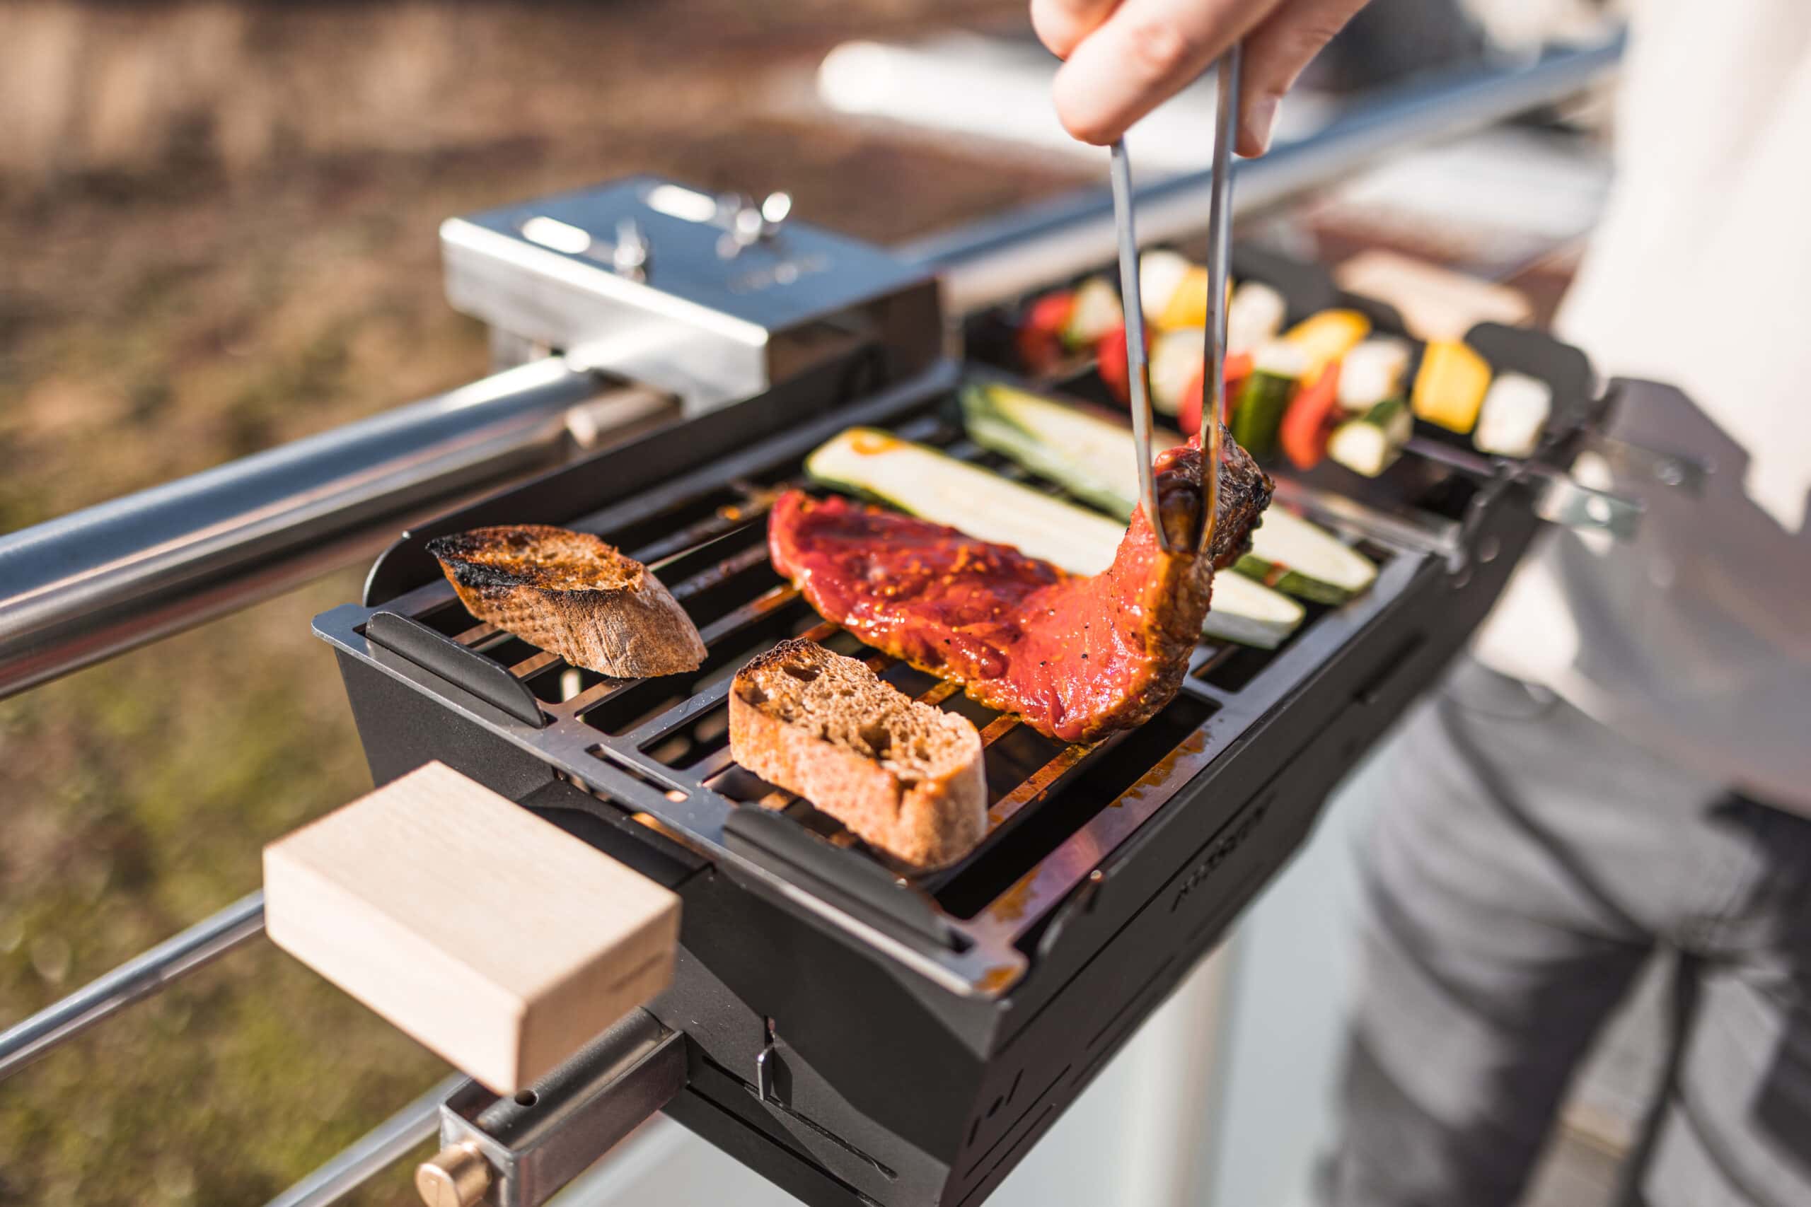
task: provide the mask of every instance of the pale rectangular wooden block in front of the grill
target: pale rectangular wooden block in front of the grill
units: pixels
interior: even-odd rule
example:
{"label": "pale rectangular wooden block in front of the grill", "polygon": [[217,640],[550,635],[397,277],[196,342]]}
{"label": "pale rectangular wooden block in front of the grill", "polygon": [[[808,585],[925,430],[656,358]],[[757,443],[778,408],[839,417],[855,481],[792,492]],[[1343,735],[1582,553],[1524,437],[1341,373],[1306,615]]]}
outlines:
{"label": "pale rectangular wooden block in front of the grill", "polygon": [[679,898],[435,762],[264,847],[264,925],[507,1095],[666,988]]}

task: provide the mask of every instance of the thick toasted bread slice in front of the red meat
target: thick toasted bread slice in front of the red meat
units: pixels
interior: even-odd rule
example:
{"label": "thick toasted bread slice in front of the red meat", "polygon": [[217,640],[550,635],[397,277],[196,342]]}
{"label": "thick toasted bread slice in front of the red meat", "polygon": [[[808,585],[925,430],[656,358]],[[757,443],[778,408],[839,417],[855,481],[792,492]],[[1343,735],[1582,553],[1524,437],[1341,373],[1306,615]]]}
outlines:
{"label": "thick toasted bread slice in front of the red meat", "polygon": [[954,863],[987,831],[974,726],[799,637],[737,673],[730,751],[913,867]]}

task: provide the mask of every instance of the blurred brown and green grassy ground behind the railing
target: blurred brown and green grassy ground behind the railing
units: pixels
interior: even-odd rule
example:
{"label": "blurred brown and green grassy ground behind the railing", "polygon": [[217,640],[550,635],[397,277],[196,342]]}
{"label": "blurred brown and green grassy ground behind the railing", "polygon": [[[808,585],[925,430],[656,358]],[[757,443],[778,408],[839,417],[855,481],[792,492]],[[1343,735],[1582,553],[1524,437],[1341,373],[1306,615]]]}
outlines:
{"label": "blurred brown and green grassy ground behind the railing", "polygon": [[[1021,0],[9,0],[0,532],[482,375],[451,214],[656,170],[896,241],[1072,185],[768,103],[844,38],[985,22]],[[308,635],[357,579],[0,702],[0,1026],[369,785]],[[259,1203],[440,1073],[255,945],[4,1086],[0,1203]]]}

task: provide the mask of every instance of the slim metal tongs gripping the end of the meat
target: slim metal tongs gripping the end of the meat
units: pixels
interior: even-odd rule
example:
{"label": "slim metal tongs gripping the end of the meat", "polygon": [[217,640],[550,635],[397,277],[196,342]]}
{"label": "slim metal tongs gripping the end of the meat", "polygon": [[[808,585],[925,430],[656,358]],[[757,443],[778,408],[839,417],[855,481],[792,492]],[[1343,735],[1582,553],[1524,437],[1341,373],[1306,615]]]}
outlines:
{"label": "slim metal tongs gripping the end of the meat", "polygon": [[[1221,498],[1221,422],[1226,416],[1226,261],[1231,255],[1233,139],[1239,132],[1239,60],[1235,42],[1219,60],[1219,109],[1213,114],[1213,194],[1208,204],[1208,338],[1201,400],[1201,539],[1190,552],[1213,543]],[[1137,280],[1137,235],[1132,230],[1132,161],[1121,138],[1112,147],[1114,226],[1119,232],[1119,293],[1126,317],[1126,382],[1132,387],[1132,436],[1137,445],[1139,498],[1170,554],[1170,534],[1157,516],[1157,474],[1150,463],[1150,380],[1145,367],[1145,299]]]}

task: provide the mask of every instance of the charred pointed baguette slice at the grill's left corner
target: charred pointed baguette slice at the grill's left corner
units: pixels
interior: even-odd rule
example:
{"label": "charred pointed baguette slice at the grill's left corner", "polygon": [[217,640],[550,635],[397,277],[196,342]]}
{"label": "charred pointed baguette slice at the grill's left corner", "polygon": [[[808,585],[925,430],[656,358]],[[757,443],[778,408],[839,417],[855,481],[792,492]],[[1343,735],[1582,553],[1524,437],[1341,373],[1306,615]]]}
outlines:
{"label": "charred pointed baguette slice at the grill's left corner", "polygon": [[585,532],[547,525],[435,537],[460,603],[527,642],[618,679],[694,671],[704,642],[639,561]]}

